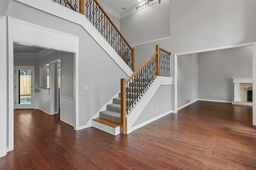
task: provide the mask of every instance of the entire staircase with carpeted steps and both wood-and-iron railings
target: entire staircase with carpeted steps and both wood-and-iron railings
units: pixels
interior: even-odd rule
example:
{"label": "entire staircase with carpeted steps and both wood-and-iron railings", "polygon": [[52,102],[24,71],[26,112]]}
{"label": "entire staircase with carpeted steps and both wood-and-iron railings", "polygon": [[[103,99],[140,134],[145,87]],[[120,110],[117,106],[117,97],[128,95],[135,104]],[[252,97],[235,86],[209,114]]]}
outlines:
{"label": "entire staircase with carpeted steps and both wood-and-iron railings", "polygon": [[[53,1],[59,2],[60,4],[62,2],[61,0]],[[135,70],[135,49],[129,45],[97,0],[89,0],[86,2],[84,0],[70,0],[70,2],[63,0],[64,3],[61,5],[77,11],[77,1],[79,2],[79,13],[86,16],[88,21],[90,21],[95,29],[102,35],[102,38],[106,40],[104,42],[108,43],[110,47],[114,49],[114,51],[111,51],[110,56],[116,56],[116,54],[120,56],[120,58],[118,57],[114,61],[122,59],[124,63],[130,67],[129,72],[131,70],[134,72],[131,73],[132,75],[128,79],[121,79],[121,90],[118,98],[114,98],[113,103],[108,104],[105,111],[96,113],[99,117],[92,119],[92,126],[113,135],[119,133],[126,134],[128,124],[131,123],[128,122],[128,119],[129,121],[131,120],[130,115],[132,115],[132,108],[134,108],[138,99],[140,99],[143,93],[151,86],[157,76],[170,76],[171,53],[160,48],[159,45],[156,45],[156,52]],[[127,66],[124,67],[126,68]],[[136,107],[135,110],[137,108],[139,107]],[[140,113],[135,110],[134,113],[136,112],[135,114],[139,115]],[[132,116],[132,118],[134,118],[134,116]]]}

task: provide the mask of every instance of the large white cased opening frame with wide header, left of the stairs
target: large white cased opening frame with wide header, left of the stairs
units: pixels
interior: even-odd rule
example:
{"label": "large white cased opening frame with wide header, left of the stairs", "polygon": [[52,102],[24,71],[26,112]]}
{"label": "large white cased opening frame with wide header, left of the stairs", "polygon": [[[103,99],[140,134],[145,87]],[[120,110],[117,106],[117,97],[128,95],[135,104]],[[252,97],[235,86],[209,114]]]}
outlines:
{"label": "large white cased opening frame with wide header, left of the stairs", "polygon": [[[36,35],[36,36],[35,36]],[[49,41],[49,39],[51,41]],[[79,129],[78,110],[78,47],[79,37],[68,33],[42,27],[33,23],[18,20],[8,16],[8,148],[7,152],[14,149],[14,55],[13,43],[20,43],[46,49],[74,53],[75,56],[75,122],[74,129]]]}

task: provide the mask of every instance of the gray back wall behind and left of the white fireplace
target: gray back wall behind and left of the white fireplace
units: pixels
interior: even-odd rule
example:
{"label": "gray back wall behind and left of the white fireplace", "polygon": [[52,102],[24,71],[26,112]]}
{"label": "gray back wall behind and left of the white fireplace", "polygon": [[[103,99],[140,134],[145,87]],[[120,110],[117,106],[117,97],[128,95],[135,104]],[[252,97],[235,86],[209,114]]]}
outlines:
{"label": "gray back wall behind and left of the white fireplace", "polygon": [[199,99],[234,100],[232,78],[240,77],[252,77],[252,46],[198,54]]}

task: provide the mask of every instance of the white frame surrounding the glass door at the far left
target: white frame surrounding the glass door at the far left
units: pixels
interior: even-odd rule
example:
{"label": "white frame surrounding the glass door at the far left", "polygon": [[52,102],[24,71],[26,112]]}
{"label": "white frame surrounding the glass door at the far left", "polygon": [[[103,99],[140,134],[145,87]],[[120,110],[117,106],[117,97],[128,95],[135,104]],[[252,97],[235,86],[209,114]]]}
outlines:
{"label": "white frame surrounding the glass door at the far left", "polygon": [[[31,69],[31,85],[32,85],[32,88],[31,88],[31,105],[32,105],[32,108],[30,109],[34,109],[34,101],[35,101],[35,95],[34,95],[34,92],[35,92],[35,66],[14,66],[14,84],[16,86],[16,88],[14,88],[14,109],[16,109],[16,106],[17,106],[17,90],[18,90],[18,86],[17,86],[17,73],[15,71],[17,71],[16,69],[17,68],[24,68],[24,69]],[[16,103],[15,103],[16,102]],[[27,109],[26,106],[24,107],[20,107],[18,109]]]}

